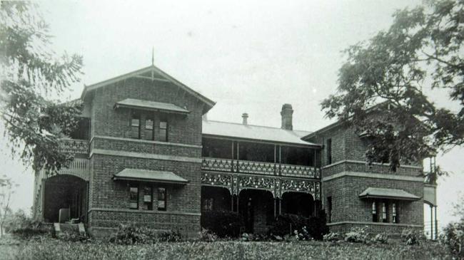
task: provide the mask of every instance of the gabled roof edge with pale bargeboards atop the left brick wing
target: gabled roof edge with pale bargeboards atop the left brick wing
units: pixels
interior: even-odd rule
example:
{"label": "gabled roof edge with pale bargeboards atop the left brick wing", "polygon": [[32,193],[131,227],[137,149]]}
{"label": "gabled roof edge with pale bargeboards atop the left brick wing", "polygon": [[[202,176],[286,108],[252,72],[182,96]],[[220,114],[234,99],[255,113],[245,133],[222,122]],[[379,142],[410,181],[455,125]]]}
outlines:
{"label": "gabled roof edge with pale bargeboards atop the left brick wing", "polygon": [[[148,66],[146,68],[141,68],[137,71],[132,71],[130,73],[123,74],[121,76],[117,76],[114,78],[109,78],[107,80],[101,81],[99,83],[94,83],[92,85],[86,85],[84,87],[84,90],[82,91],[81,94],[81,99],[84,99],[87,93],[89,93],[92,90],[96,90],[97,88],[101,88],[104,85],[109,85],[112,83],[116,83],[121,80],[125,80],[127,78],[133,78],[136,76],[141,76],[144,78],[152,78],[154,80],[161,80],[161,81],[166,81],[166,82],[171,82],[174,85],[177,85],[179,88],[185,90],[187,93],[190,93],[194,97],[198,98],[198,100],[201,100],[203,103],[208,105],[208,109],[206,111],[210,110],[213,108],[213,106],[216,104],[213,100],[206,98],[204,95],[201,95],[200,93],[196,92],[195,90],[188,88],[188,86],[184,85],[180,81],[176,80],[175,78],[171,77],[168,75],[168,73],[165,73],[164,71],[161,71],[161,69],[157,68],[156,66]],[[205,112],[205,111],[203,111]]]}

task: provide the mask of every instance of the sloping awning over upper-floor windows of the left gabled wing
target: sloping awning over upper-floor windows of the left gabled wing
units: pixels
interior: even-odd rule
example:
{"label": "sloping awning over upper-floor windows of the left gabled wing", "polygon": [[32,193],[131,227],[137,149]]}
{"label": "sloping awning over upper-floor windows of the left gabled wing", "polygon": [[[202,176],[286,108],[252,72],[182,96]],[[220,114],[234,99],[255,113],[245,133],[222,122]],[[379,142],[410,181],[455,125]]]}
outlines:
{"label": "sloping awning over upper-floor windows of the left gabled wing", "polygon": [[153,110],[160,111],[165,113],[179,113],[179,114],[188,114],[190,111],[185,108],[178,107],[177,105],[171,103],[161,103],[149,100],[140,100],[133,98],[126,98],[114,104],[114,109],[116,108],[136,108],[141,110]]}

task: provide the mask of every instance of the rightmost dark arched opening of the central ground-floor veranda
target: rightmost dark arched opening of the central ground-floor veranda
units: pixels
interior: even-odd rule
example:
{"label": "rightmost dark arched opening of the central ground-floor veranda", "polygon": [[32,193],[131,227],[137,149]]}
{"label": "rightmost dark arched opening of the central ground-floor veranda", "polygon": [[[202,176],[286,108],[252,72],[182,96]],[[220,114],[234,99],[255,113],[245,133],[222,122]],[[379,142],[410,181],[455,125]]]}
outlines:
{"label": "rightmost dark arched opening of the central ground-floor veranda", "polygon": [[315,215],[315,202],[313,196],[304,192],[285,192],[282,195],[282,214],[297,214],[303,217]]}

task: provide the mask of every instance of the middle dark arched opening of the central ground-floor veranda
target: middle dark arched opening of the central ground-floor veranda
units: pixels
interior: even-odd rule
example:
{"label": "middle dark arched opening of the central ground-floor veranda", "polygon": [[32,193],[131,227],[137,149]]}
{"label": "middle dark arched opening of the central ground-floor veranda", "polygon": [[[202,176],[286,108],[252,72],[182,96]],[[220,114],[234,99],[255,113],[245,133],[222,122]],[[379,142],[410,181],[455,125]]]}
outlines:
{"label": "middle dark arched opening of the central ground-floor veranda", "polygon": [[274,220],[273,194],[261,189],[243,189],[238,197],[238,212],[243,217],[245,232],[266,233]]}

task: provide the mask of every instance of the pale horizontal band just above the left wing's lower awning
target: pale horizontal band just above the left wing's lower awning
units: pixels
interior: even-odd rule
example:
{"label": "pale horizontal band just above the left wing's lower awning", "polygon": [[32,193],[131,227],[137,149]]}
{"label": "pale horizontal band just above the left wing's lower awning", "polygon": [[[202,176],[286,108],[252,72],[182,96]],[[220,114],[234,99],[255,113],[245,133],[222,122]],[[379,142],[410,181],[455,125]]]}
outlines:
{"label": "pale horizontal band just above the left wing's lower awning", "polygon": [[126,151],[104,150],[104,149],[93,149],[90,152],[89,158],[91,158],[93,155],[136,157],[136,158],[166,160],[166,161],[176,161],[176,162],[198,162],[198,163],[202,162],[201,158],[196,158],[196,157],[183,157],[183,156],[173,156],[173,155],[153,155],[153,154],[147,154],[147,153],[141,153],[141,152],[126,152]]}

